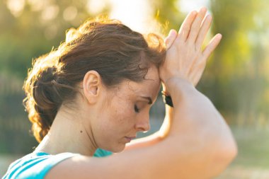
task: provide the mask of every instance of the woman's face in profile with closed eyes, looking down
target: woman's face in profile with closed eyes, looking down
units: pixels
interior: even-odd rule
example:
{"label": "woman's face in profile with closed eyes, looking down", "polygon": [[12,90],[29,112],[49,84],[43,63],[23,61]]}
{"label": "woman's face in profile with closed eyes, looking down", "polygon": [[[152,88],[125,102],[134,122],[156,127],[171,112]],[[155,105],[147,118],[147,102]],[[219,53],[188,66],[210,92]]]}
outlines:
{"label": "woman's face in profile with closed eyes, looking down", "polygon": [[99,108],[92,126],[97,146],[119,152],[137,136],[137,132],[150,129],[149,109],[155,102],[160,88],[158,69],[151,67],[146,80],[136,83],[123,81],[117,89],[108,89],[103,108]]}

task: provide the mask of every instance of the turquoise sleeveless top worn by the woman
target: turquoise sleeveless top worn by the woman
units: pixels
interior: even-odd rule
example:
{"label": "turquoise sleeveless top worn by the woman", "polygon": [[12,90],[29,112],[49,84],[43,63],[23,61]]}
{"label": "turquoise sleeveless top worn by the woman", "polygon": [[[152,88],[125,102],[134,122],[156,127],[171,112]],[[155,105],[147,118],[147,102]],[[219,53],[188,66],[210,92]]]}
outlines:
{"label": "turquoise sleeveless top worn by the woman", "polygon": [[[104,157],[113,154],[110,151],[97,149],[94,157]],[[50,155],[45,152],[31,153],[23,158],[18,159],[11,163],[8,167],[8,171],[2,179],[42,179],[45,177],[48,171],[57,163],[64,161],[72,156],[78,156],[74,153],[61,153],[57,155]]]}

